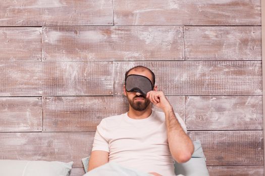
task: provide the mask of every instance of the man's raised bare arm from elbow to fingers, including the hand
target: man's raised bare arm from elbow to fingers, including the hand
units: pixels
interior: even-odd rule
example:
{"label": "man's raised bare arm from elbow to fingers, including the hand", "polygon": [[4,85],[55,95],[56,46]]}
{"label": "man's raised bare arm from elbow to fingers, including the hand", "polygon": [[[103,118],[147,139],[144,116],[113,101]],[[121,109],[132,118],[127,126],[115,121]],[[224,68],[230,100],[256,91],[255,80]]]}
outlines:
{"label": "man's raised bare arm from elbow to fingers, including the hand", "polygon": [[194,152],[194,145],[183,131],[168,99],[161,91],[150,91],[146,94],[146,98],[149,98],[156,107],[165,113],[169,148],[173,158],[178,163],[188,161]]}

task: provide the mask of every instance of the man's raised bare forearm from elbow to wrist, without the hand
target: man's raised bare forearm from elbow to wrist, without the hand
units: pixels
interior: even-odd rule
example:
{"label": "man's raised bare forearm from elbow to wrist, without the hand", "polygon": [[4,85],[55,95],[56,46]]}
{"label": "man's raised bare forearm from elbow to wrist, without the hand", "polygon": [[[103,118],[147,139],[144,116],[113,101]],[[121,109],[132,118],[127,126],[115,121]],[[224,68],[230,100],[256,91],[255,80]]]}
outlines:
{"label": "man's raised bare forearm from elbow to wrist, without the hand", "polygon": [[164,113],[170,152],[177,162],[186,162],[190,159],[194,151],[193,142],[182,129],[173,108],[165,110]]}

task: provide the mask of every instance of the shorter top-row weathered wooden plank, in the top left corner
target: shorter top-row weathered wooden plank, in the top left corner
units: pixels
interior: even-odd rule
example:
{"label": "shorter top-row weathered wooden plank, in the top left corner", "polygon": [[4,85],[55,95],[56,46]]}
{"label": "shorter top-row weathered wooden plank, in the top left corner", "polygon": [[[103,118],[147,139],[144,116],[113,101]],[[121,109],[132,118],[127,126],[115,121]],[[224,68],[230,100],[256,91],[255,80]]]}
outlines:
{"label": "shorter top-row weathered wooden plank, in the top left corner", "polygon": [[111,0],[3,0],[1,26],[113,25]]}

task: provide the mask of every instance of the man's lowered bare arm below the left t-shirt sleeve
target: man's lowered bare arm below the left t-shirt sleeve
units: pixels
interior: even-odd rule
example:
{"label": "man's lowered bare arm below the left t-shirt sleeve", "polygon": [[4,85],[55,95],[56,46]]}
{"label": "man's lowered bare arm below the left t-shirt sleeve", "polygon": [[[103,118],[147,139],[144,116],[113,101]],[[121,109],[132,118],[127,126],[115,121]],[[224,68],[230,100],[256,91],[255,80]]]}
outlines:
{"label": "man's lowered bare arm below the left t-shirt sleeve", "polygon": [[102,150],[94,150],[91,152],[87,171],[90,171],[108,162],[109,162],[109,152]]}

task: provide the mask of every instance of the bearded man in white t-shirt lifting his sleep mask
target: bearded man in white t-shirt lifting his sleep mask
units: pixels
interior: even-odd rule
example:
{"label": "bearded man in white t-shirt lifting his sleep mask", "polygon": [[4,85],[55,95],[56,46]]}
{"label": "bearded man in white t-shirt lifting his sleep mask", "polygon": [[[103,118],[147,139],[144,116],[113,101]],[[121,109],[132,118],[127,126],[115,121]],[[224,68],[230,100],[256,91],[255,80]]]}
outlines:
{"label": "bearded man in white t-shirt lifting his sleep mask", "polygon": [[[129,75],[135,80],[149,79],[151,91],[145,95],[141,91],[145,85],[138,85],[142,80],[128,82]],[[153,175],[175,175],[174,160],[186,162],[194,151],[184,121],[174,113],[164,93],[157,91],[155,76],[149,68],[133,67],[125,73],[125,80],[123,92],[129,101],[129,111],[101,120],[95,133],[88,171],[116,161]],[[128,83],[143,87],[130,91],[126,87]],[[152,110],[151,103],[163,112]]]}

